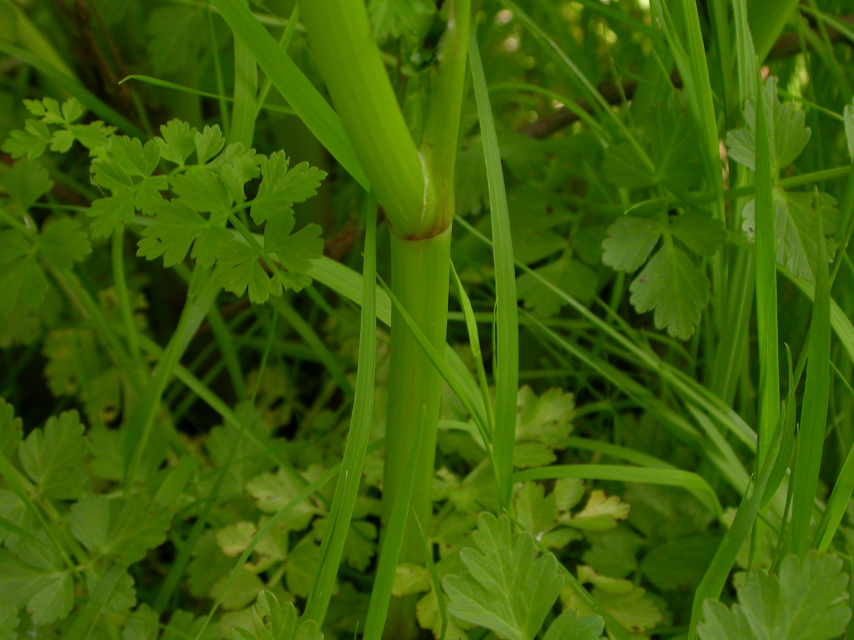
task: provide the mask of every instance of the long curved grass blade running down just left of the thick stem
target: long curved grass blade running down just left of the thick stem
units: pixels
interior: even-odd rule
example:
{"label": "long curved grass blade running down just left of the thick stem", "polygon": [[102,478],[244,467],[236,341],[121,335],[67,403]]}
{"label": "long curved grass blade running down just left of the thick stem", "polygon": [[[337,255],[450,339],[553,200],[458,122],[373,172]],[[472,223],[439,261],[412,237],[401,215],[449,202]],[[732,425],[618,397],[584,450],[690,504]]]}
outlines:
{"label": "long curved grass blade running down just left of the thick stem", "polygon": [[344,543],[359,492],[365,451],[371,436],[374,379],[377,368],[377,198],[370,195],[366,206],[365,263],[362,269],[362,311],[359,334],[359,368],[353,414],[347,444],[344,445],[342,474],[335,488],[329,526],[320,546],[317,571],[309,590],[304,618],[323,625],[329,599],[335,587]]}

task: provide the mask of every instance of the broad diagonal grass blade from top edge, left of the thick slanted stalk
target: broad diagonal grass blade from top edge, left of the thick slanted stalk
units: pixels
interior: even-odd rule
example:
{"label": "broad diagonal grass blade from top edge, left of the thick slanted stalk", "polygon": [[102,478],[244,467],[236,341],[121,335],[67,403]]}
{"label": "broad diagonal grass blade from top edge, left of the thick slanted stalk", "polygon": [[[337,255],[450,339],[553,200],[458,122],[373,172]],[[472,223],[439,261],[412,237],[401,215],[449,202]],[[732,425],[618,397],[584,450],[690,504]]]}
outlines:
{"label": "broad diagonal grass blade from top edge, left of the thick slanted stalk", "polygon": [[255,62],[266,73],[267,78],[296,114],[332,156],[341,163],[351,176],[365,189],[370,188],[347,134],[335,111],[319,91],[306,78],[278,46],[278,43],[255,19],[247,7],[238,0],[211,0],[219,14],[231,26],[236,38],[240,38]]}

